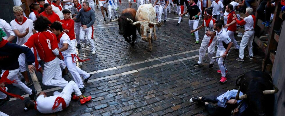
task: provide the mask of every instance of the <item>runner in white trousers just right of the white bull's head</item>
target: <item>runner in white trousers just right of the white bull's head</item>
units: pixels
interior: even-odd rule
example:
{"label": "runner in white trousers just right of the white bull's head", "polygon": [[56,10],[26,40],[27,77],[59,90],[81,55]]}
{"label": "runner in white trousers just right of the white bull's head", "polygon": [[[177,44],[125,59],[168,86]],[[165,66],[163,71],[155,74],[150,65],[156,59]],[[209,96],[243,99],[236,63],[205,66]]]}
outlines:
{"label": "runner in white trousers just right of the white bull's head", "polygon": [[[158,2],[159,1],[159,2]],[[154,2],[153,7],[155,7],[156,4],[159,4],[159,10],[158,10],[158,23],[161,22],[161,16],[162,16],[162,12],[164,14],[164,23],[166,22],[166,18],[167,18],[167,6],[169,4],[168,0],[156,0]],[[155,7],[156,9],[157,7]],[[156,9],[157,10],[157,9]]]}

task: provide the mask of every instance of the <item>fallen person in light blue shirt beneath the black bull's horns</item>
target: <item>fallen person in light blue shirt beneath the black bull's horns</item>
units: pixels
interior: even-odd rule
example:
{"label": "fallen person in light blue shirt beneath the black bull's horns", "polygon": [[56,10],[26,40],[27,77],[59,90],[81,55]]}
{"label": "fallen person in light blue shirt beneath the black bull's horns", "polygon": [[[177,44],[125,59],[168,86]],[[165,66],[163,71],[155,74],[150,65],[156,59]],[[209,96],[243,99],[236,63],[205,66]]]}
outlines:
{"label": "fallen person in light blue shirt beneath the black bull's horns", "polygon": [[[228,90],[225,93],[220,93],[217,96],[202,96],[202,97],[192,97],[189,102],[197,102],[198,104],[204,104],[206,111],[211,116],[242,116],[247,108],[246,102],[243,100],[236,100],[235,97],[238,90]],[[239,95],[243,95],[242,92]],[[208,102],[217,104],[214,107]]]}

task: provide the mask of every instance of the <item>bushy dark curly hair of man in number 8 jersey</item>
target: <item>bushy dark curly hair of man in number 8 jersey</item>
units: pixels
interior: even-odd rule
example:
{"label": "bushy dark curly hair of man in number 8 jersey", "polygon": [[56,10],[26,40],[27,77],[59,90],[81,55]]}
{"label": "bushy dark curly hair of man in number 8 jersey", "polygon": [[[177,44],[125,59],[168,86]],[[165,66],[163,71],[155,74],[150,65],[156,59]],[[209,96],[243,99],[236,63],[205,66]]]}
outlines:
{"label": "bushy dark curly hair of man in number 8 jersey", "polygon": [[35,26],[34,28],[35,28],[35,30],[42,32],[42,31],[47,30],[47,28],[49,28],[50,24],[51,24],[51,21],[49,21],[49,19],[47,19],[47,17],[40,15],[40,17],[38,17],[38,19],[34,23],[34,26]]}

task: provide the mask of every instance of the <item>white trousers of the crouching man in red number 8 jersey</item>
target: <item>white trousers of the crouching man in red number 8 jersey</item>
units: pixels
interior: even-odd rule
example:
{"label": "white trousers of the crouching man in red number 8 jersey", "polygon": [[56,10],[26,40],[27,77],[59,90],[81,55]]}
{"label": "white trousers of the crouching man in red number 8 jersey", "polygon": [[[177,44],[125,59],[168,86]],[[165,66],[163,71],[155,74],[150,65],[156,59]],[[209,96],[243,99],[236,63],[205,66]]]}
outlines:
{"label": "white trousers of the crouching man in red number 8 jersey", "polygon": [[58,86],[64,88],[67,84],[67,81],[65,81],[61,76],[62,73],[60,70],[58,57],[44,64],[42,84],[45,86]]}

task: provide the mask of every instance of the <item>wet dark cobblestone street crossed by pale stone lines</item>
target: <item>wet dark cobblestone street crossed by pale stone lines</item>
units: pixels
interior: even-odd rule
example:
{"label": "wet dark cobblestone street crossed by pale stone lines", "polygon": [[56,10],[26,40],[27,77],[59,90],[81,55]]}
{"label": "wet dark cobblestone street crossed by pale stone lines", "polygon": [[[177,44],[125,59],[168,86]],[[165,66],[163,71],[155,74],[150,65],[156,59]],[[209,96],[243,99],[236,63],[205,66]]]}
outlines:
{"label": "wet dark cobblestone street crossed by pale stone lines", "polygon": [[[120,15],[128,5],[127,0],[122,0],[117,14]],[[132,8],[134,7],[136,8],[136,3],[133,3]],[[200,44],[195,44],[195,36],[191,36],[188,26],[189,17],[184,17],[180,26],[176,26],[178,16],[173,13],[173,8],[171,10],[172,13],[167,14],[166,23],[163,23],[159,30],[156,27],[157,40],[153,41],[153,50],[149,52],[148,42],[143,41],[138,33],[135,46],[131,47],[131,43],[127,43],[123,36],[119,35],[117,22],[109,22],[109,17],[104,21],[100,8],[96,9],[93,25],[96,54],[91,54],[90,45],[83,48],[84,43],[81,43],[82,47],[78,50],[79,57],[90,59],[83,62],[81,69],[92,74],[84,84],[86,90],[83,93],[85,96],[91,95],[92,100],[84,105],[79,101],[72,101],[65,110],[48,115],[207,116],[209,114],[203,106],[189,102],[191,97],[217,95],[236,89],[235,81],[238,76],[261,69],[264,56],[261,51],[254,52],[253,60],[245,57],[245,61],[240,62],[235,60],[239,53],[232,50],[232,47],[225,60],[229,71],[228,80],[224,84],[219,83],[221,75],[216,73],[219,67],[216,63],[214,68],[209,69],[210,60],[207,55],[204,66],[194,66],[199,58],[204,29],[199,30]],[[161,20],[163,22],[163,18]],[[200,25],[202,20],[199,21]],[[241,37],[236,37],[236,40],[239,44]],[[70,74],[64,78],[72,80]],[[41,77],[38,83],[42,90],[48,91],[48,96],[54,91],[61,91],[60,88],[43,86]],[[34,85],[31,88],[36,88]],[[18,88],[8,91],[26,94]],[[36,110],[25,111],[20,99],[10,99],[10,102],[0,107],[0,111],[11,116],[44,115]]]}

